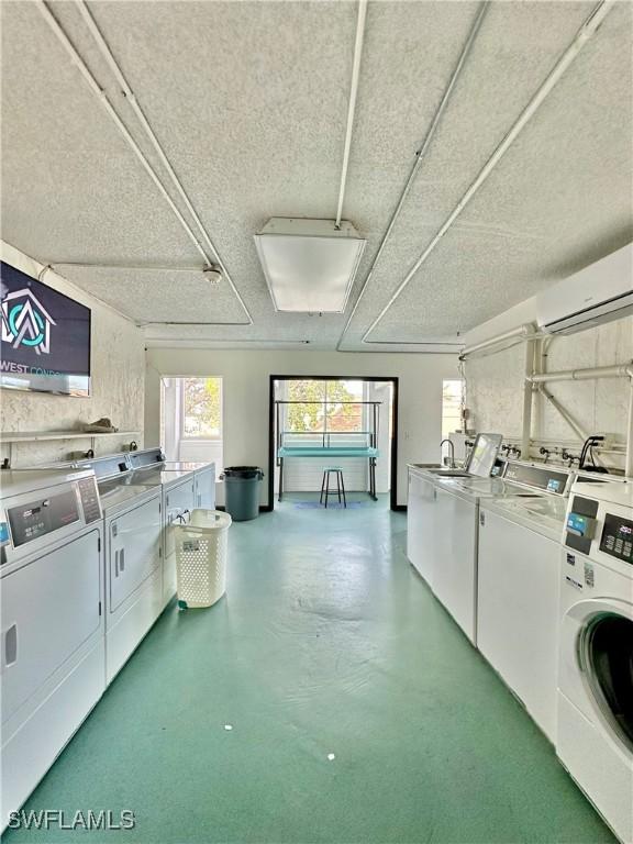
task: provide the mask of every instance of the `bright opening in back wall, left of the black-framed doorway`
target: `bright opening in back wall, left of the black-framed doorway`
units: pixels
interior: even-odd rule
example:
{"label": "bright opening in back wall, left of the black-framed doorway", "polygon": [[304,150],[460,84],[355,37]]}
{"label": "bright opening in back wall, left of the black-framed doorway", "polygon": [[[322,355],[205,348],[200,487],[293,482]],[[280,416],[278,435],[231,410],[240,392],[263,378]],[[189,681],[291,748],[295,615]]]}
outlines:
{"label": "bright opening in back wall, left of the black-framed doorway", "polygon": [[167,460],[223,466],[222,378],[163,378],[160,446]]}

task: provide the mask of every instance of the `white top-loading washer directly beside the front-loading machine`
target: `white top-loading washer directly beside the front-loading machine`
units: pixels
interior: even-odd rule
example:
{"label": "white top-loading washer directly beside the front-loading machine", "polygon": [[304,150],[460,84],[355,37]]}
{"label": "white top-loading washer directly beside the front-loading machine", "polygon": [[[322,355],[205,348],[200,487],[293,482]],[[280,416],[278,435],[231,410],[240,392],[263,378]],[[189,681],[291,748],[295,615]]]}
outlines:
{"label": "white top-loading washer directly beside the front-loading machine", "polygon": [[481,501],[477,647],[554,742],[558,560],[567,480],[563,470],[555,476],[545,467],[536,471],[545,481],[541,488],[549,485],[559,491]]}

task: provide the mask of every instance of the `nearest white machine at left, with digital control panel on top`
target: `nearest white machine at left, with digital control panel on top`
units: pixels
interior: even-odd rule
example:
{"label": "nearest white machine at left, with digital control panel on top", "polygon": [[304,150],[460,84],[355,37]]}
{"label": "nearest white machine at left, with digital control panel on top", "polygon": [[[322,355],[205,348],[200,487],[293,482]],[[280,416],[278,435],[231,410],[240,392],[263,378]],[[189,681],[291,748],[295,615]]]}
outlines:
{"label": "nearest white machine at left, with digital control panel on top", "polygon": [[91,471],[2,471],[1,825],[106,688],[102,520]]}

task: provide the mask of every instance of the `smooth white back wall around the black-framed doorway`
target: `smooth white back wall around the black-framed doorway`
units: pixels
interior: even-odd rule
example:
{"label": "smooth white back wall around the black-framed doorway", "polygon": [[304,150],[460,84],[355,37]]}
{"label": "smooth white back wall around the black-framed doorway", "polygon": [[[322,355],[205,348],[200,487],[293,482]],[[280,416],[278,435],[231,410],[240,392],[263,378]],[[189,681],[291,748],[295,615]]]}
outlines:
{"label": "smooth white back wall around the black-framed doorway", "polygon": [[[268,473],[270,375],[390,376],[400,379],[398,503],[407,503],[407,463],[440,456],[442,379],[453,378],[453,355],[373,354],[303,351],[214,351],[151,348],[147,352],[145,438],[160,440],[160,377],[222,376],[224,463],[259,465]],[[262,502],[268,502],[267,484]]]}

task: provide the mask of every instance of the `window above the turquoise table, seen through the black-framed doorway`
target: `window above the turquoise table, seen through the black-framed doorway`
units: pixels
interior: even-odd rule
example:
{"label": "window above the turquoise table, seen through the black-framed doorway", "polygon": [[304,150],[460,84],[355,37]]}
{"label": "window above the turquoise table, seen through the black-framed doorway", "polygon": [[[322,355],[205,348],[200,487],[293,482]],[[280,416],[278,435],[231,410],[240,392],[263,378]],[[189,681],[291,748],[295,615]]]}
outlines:
{"label": "window above the turquoise table, seen through the black-framed doorway", "polygon": [[286,431],[358,432],[364,424],[363,381],[319,381],[312,378],[287,382]]}

